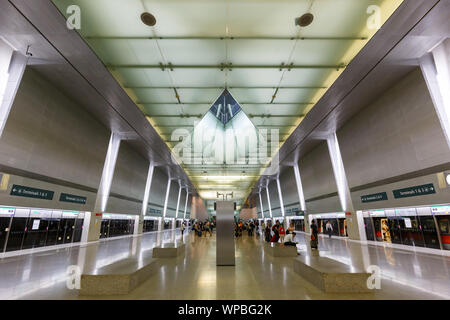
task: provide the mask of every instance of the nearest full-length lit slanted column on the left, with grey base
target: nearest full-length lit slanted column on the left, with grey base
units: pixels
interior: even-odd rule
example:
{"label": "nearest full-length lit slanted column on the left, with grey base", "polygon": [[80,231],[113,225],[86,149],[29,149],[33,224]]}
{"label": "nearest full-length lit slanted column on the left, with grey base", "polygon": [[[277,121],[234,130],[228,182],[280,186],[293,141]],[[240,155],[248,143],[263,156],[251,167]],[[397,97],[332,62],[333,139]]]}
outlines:
{"label": "nearest full-length lit slanted column on the left, with grey base", "polygon": [[119,147],[120,136],[113,132],[111,133],[111,138],[109,139],[102,178],[100,180],[100,186],[98,187],[97,198],[95,199],[94,212],[91,214],[88,241],[97,241],[100,235],[102,214],[105,212],[108,204],[112,179],[116,168],[117,156],[119,154]]}

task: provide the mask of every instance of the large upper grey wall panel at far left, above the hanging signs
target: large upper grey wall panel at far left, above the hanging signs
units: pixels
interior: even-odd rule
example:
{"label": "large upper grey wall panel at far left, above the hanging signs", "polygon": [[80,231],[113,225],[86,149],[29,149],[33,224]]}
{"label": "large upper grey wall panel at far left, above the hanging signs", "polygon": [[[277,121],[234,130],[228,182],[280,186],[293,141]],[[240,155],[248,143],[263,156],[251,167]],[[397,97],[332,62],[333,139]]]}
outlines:
{"label": "large upper grey wall panel at far left, above the hanging signs", "polygon": [[83,108],[27,69],[0,138],[0,164],[97,188],[109,135]]}

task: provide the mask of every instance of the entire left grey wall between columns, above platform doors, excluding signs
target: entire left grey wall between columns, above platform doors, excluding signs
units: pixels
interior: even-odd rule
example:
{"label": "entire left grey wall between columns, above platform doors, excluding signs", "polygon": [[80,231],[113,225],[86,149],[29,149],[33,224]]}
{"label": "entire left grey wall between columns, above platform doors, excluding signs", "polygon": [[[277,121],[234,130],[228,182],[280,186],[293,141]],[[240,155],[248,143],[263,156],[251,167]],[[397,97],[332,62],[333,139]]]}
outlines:
{"label": "entire left grey wall between columns, above platform doors, excluding signs", "polygon": [[[109,137],[82,106],[27,68],[0,138],[0,171],[11,174],[0,205],[92,211]],[[122,142],[107,212],[140,213],[147,169],[145,159]],[[165,184],[158,179],[150,202],[162,207]],[[55,196],[51,201],[10,196],[12,184],[52,190]],[[60,192],[85,196],[87,203],[59,202]]]}

